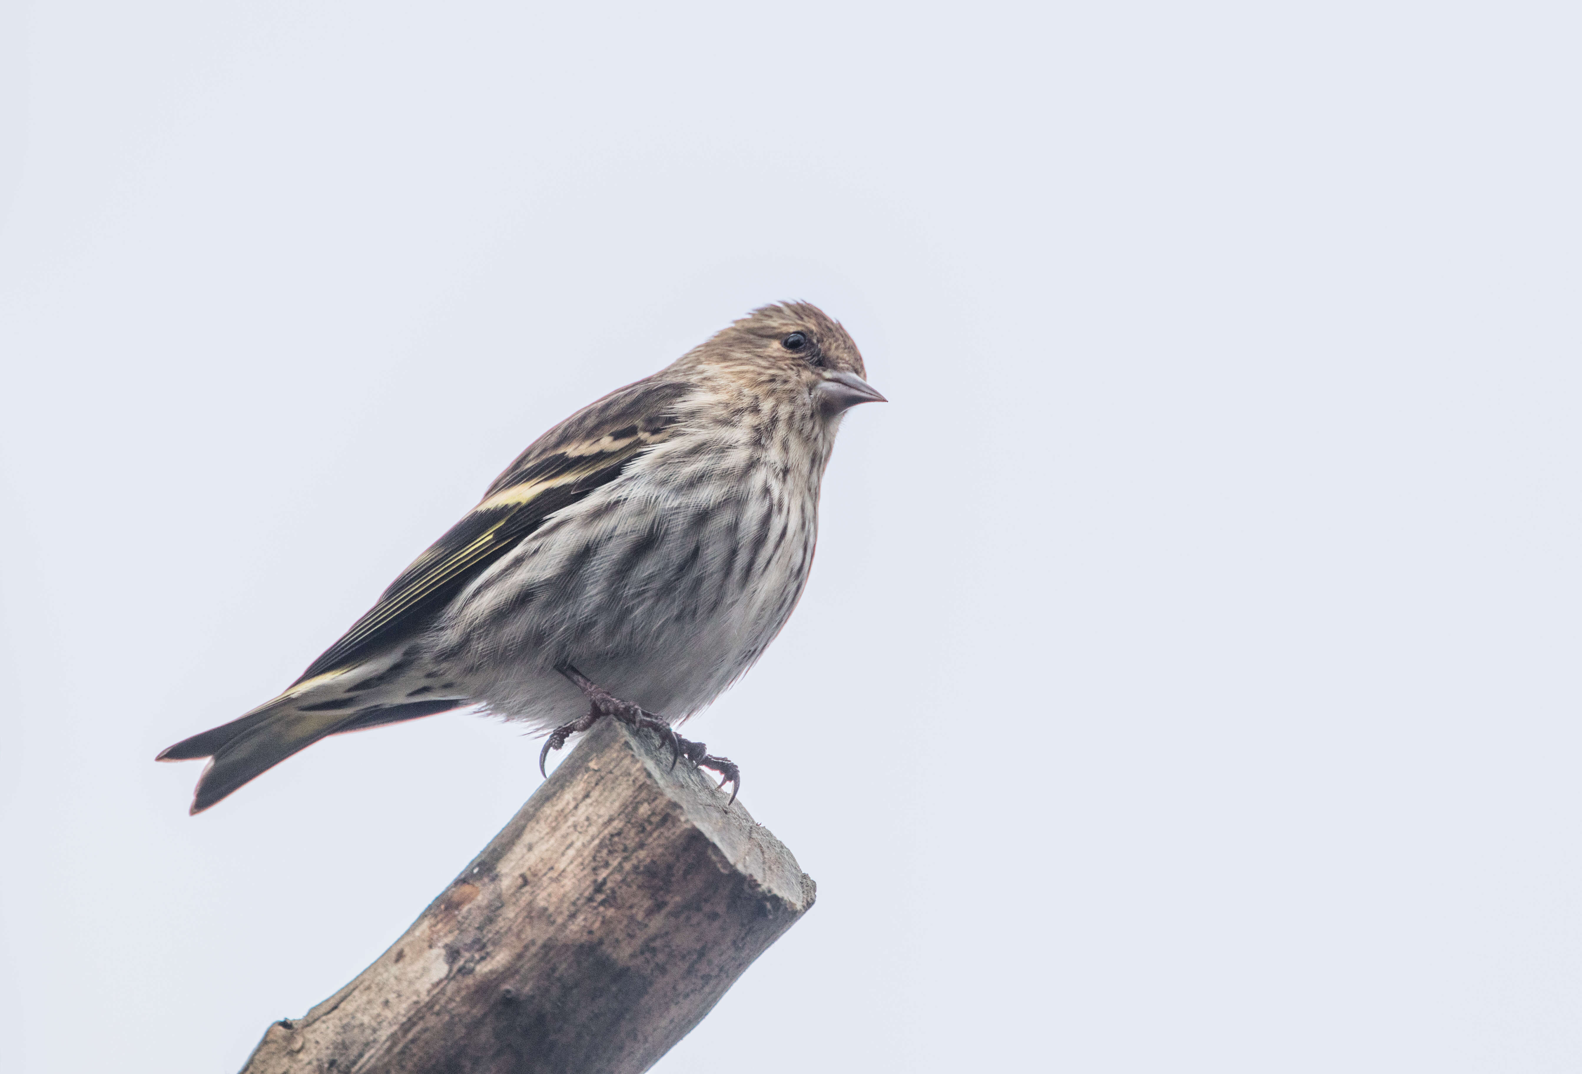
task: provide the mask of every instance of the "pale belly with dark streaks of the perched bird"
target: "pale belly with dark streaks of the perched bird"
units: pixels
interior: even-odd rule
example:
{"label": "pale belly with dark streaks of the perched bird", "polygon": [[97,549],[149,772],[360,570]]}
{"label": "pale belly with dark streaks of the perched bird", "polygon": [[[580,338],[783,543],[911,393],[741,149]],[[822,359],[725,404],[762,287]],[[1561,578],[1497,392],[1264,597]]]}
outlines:
{"label": "pale belly with dark streaks of the perched bird", "polygon": [[644,709],[685,718],[785,625],[812,563],[802,503],[614,503],[568,512],[457,598],[435,642],[490,712],[555,726],[587,702],[562,661]]}

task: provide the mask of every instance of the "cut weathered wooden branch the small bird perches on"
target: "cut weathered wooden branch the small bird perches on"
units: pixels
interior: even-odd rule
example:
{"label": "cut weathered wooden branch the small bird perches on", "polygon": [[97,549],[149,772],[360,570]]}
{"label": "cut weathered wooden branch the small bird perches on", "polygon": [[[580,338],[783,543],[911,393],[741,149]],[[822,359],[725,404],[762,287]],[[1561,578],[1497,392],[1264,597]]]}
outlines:
{"label": "cut weathered wooden branch the small bird perches on", "polygon": [[356,981],[242,1074],[636,1074],[813,905],[813,879],[657,734],[600,721]]}

